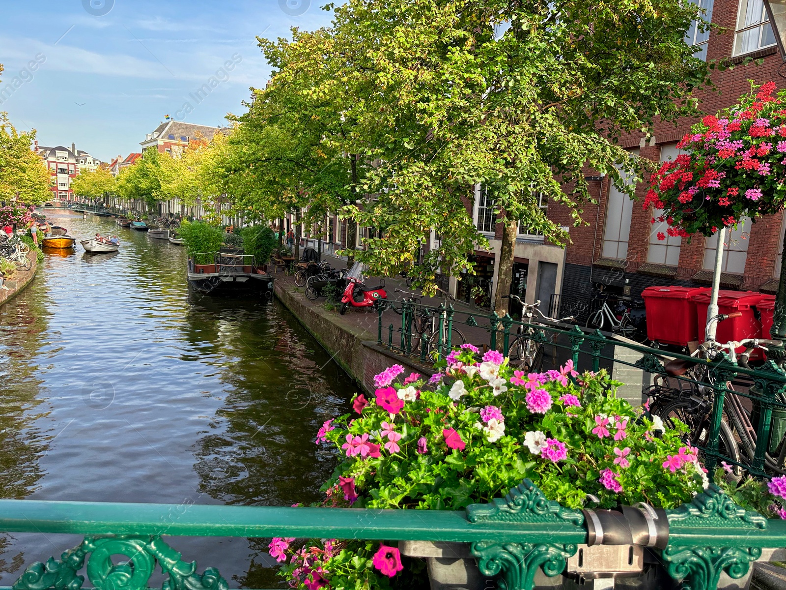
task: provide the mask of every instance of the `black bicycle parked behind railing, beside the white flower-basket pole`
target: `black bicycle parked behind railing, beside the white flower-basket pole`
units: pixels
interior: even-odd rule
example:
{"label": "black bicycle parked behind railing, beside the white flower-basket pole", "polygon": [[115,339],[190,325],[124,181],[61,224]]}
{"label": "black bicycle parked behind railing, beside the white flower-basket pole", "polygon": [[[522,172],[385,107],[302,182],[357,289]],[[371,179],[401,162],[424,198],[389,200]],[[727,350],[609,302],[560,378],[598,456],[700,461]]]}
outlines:
{"label": "black bicycle parked behind railing, beside the white flower-basket pole", "polygon": [[[722,322],[730,317],[738,317],[740,312],[731,314],[718,314],[710,319],[707,326],[712,323]],[[703,448],[709,443],[712,425],[712,408],[714,407],[716,382],[711,374],[711,361],[716,360],[722,352],[726,352],[729,360],[736,362],[740,367],[750,368],[747,361],[751,352],[761,349],[766,352],[767,345],[778,344],[777,341],[762,338],[745,338],[742,341],[729,341],[725,344],[706,339],[692,356],[696,362],[687,360],[670,360],[664,365],[667,376],[680,378],[681,387],[668,387],[663,383],[656,383],[645,394],[651,399],[650,411],[659,415],[667,426],[674,426],[674,420],[679,420],[688,426],[689,432],[685,441],[693,447]],[[744,352],[738,353],[739,348]],[[754,423],[758,414],[756,400],[737,393],[732,382],[725,384],[723,400],[723,413],[718,435],[718,452],[730,459],[731,473],[741,477],[740,463],[751,463],[754,459],[757,433]],[[782,394],[777,399],[786,403]],[[777,444],[771,444],[772,453],[765,455],[765,468],[773,474],[786,474],[786,435]]]}

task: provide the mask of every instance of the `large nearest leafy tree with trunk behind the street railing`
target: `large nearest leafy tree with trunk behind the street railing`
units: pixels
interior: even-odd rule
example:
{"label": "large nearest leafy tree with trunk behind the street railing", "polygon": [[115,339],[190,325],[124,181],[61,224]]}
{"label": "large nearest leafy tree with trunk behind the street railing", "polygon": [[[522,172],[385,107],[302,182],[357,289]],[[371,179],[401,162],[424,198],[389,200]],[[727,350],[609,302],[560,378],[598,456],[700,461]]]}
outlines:
{"label": "large nearest leafy tree with trunk behind the street railing", "polygon": [[586,167],[630,194],[617,166],[640,164],[619,137],[656,117],[696,112],[689,99],[708,82],[707,64],[684,39],[697,11],[680,0],[351,0],[336,8],[333,35],[347,41],[332,77],[336,86],[356,85],[345,109],[357,121],[363,158],[376,163],[362,189],[379,195],[347,209],[360,223],[387,227],[358,257],[373,273],[393,275],[435,230],[442,245],[421,279],[437,264],[454,273],[472,267],[467,254],[485,241],[461,197],[483,184],[505,228],[495,304],[502,311],[518,224],[550,242],[568,239],[536,194],[581,223],[582,202],[591,200]]}

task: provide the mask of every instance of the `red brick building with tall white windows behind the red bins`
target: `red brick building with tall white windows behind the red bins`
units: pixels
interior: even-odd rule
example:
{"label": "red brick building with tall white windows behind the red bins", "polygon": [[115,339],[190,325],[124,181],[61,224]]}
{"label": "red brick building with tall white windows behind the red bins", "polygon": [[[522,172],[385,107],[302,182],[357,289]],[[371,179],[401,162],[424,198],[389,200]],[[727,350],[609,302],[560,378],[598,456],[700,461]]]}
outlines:
{"label": "red brick building with tall white windows behind the red bins", "polygon": [[[696,0],[693,0],[696,2]],[[778,87],[786,86],[779,76],[782,61],[767,20],[762,0],[701,0],[714,24],[722,34],[694,37],[700,44],[702,57],[709,60],[728,58],[735,67],[714,71],[712,78],[720,92],[699,95],[701,109],[717,112],[733,105],[740,94],[750,90],[749,79],[757,84],[768,80]],[[714,5],[714,6],[713,6]],[[745,58],[755,58],[742,65]],[[762,65],[756,61],[762,59]],[[696,120],[674,124],[656,124],[652,138],[645,142],[643,134],[630,135],[623,147],[655,162],[673,159],[678,154],[677,142]],[[589,225],[571,227],[571,245],[566,249],[564,281],[561,293],[567,297],[586,298],[592,286],[603,285],[612,293],[638,297],[641,290],[652,285],[711,284],[716,238],[694,236],[659,241],[656,234],[665,232],[665,224],[651,223],[659,216],[652,207],[641,203],[646,183],[637,186],[637,201],[631,201],[616,190],[610,179],[594,177],[590,181],[598,205],[584,208]],[[549,217],[567,225],[567,210],[549,204]],[[732,230],[723,248],[722,288],[751,289],[774,293],[780,274],[780,257],[784,235],[784,214],[766,216],[756,223],[744,219]],[[559,291],[557,291],[559,292]]]}

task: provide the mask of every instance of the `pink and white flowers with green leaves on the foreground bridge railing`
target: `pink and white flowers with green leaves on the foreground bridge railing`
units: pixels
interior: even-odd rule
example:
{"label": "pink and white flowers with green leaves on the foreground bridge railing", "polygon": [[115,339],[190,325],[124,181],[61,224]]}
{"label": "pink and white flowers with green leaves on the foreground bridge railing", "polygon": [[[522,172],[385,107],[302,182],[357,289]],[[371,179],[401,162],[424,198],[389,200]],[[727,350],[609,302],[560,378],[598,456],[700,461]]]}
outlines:
{"label": "pink and white flowers with green leaves on the foreground bridge railing", "polygon": [[[530,478],[566,507],[676,507],[708,485],[698,452],[644,408],[615,396],[604,371],[525,374],[501,353],[462,345],[425,380],[394,365],[317,444],[340,457],[319,506],[461,510]],[[392,544],[274,539],[298,588],[412,586],[422,563]],[[419,565],[418,565],[419,564]]]}

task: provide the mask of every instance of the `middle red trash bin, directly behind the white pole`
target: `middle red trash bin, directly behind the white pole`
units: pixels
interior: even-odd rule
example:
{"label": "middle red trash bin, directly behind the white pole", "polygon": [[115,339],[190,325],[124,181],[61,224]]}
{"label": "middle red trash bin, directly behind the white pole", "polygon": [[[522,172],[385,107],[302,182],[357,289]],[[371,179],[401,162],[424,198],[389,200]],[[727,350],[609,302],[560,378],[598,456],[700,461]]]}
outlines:
{"label": "middle red trash bin, directly behind the white pole", "polygon": [[[756,319],[754,308],[759,301],[762,301],[762,297],[764,297],[762,293],[756,291],[724,289],[718,291],[718,313],[741,312],[742,315],[718,322],[715,340],[725,344],[730,340],[758,338],[762,333],[762,323]],[[710,306],[710,292],[694,295],[693,301],[696,301],[699,340],[703,342],[707,326],[707,308]]]}

